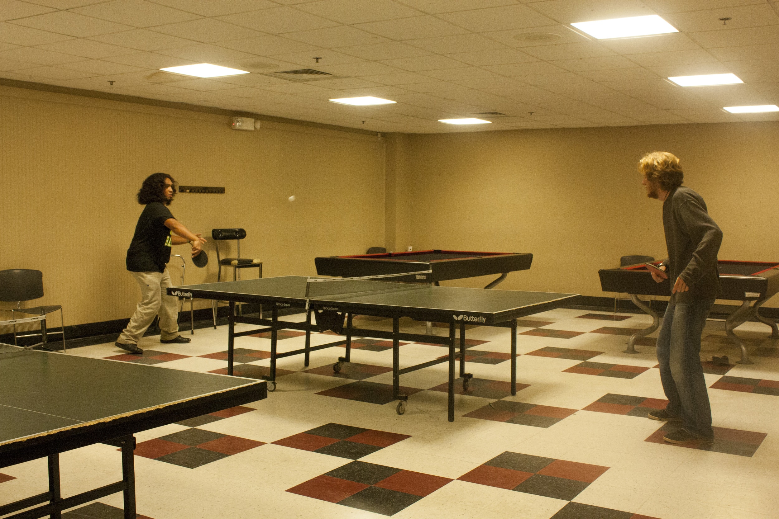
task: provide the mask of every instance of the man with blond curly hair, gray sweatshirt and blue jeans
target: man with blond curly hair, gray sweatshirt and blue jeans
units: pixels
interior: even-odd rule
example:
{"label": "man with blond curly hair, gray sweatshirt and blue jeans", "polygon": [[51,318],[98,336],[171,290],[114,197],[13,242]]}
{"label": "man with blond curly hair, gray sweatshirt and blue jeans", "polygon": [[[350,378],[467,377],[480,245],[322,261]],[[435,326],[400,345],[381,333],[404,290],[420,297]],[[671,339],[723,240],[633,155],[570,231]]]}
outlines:
{"label": "man with blond curly hair, gray sweatshirt and blue jeans", "polygon": [[[668,258],[661,270],[671,279],[671,299],[657,336],[660,380],[668,398],[665,409],[649,418],[682,423],[666,433],[671,444],[701,444],[714,440],[711,407],[700,364],[700,336],[714,300],[721,293],[717,252],[722,231],[707,212],[706,202],[682,186],[679,159],[668,152],[647,153],[638,163],[649,198],[663,202],[663,229]],[[660,275],[652,273],[656,282]]]}

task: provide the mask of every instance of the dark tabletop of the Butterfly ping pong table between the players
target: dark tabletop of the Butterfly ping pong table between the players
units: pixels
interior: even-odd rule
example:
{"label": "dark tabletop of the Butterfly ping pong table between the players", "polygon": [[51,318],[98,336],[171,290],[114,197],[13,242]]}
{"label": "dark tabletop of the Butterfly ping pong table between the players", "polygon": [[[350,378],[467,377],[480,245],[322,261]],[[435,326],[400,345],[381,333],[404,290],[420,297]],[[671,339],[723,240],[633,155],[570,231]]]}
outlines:
{"label": "dark tabletop of the Butterfly ping pong table between the players", "polygon": [[[279,307],[354,311],[364,314],[435,317],[438,322],[491,324],[549,308],[575,304],[578,294],[474,289],[409,283],[349,280],[311,283],[306,297],[305,276],[245,279],[178,286],[168,295],[218,299],[237,303],[276,303]],[[348,283],[343,285],[342,283]],[[332,289],[330,288],[332,286]],[[344,289],[349,291],[344,293]],[[336,292],[332,294],[322,291]]]}

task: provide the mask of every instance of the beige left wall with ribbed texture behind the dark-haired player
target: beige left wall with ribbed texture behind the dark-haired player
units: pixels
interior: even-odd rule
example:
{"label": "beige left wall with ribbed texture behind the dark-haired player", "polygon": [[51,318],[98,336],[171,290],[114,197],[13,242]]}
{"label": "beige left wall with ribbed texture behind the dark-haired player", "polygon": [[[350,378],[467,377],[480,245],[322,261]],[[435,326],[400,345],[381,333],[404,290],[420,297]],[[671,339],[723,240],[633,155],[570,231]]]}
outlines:
{"label": "beige left wall with ribbed texture behind the dark-haired player", "polygon": [[[125,251],[143,209],[136,192],[156,171],[224,186],[179,194],[171,212],[209,239],[214,227],[244,227],[241,255],[266,276],[312,275],[317,255],[384,241],[383,142],[368,135],[279,123],[237,132],[224,116],[2,87],[0,147],[0,269],[43,271],[36,303],[62,304],[67,324],[132,314]],[[188,284],[216,281],[213,247],[205,269],[187,261]]]}

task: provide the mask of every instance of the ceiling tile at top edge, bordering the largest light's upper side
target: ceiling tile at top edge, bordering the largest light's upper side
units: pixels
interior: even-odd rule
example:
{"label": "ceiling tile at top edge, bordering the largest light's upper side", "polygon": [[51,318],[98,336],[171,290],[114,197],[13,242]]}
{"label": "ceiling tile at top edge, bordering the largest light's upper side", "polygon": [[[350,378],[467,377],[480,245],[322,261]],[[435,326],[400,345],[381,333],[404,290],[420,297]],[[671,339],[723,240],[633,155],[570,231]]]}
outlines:
{"label": "ceiling tile at top edge, bordering the largest light's upper side", "polygon": [[641,0],[551,0],[534,2],[532,7],[559,23],[654,15]]}

